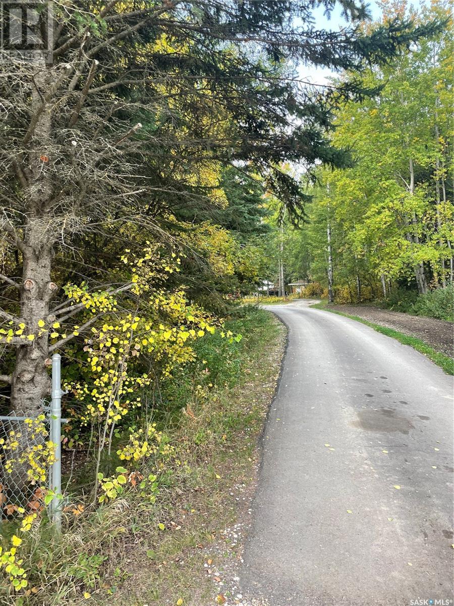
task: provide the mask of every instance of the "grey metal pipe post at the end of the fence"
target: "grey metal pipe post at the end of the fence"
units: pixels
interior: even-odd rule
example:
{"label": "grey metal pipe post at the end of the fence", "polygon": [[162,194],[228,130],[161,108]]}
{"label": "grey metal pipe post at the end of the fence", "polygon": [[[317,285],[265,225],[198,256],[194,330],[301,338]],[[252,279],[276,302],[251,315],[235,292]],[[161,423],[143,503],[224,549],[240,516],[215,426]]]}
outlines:
{"label": "grey metal pipe post at the end of the fence", "polygon": [[[50,439],[56,444],[55,462],[51,468],[51,489],[55,494],[62,491],[62,446],[61,446],[61,416],[62,416],[62,390],[61,390],[61,356],[54,353],[52,356],[52,391],[50,407]],[[50,505],[52,521],[58,531],[62,527],[61,502],[54,497]]]}

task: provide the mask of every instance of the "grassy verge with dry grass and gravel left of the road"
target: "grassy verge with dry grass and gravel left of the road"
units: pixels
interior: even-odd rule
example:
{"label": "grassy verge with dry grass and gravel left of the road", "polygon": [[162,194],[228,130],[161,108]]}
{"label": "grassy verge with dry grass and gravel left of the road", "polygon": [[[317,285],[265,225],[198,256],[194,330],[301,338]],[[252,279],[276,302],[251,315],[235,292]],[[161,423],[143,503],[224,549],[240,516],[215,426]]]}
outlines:
{"label": "grassy verge with dry grass and gravel left of the road", "polygon": [[[188,394],[177,418],[174,413],[163,426],[177,456],[159,473],[156,503],[129,490],[94,510],[69,512],[61,541],[41,525],[30,533],[24,552],[27,590],[18,595],[0,588],[1,604],[215,603],[206,561],[216,557],[208,555],[212,546],[237,519],[238,487],[254,484],[258,436],[285,341],[283,325],[267,311],[249,307],[241,314],[227,326],[243,335],[234,355],[223,357],[216,339],[207,338],[203,346],[204,357],[220,365],[214,387],[200,390],[205,375],[197,373],[175,381]],[[142,469],[144,476],[150,471]],[[226,540],[219,560],[236,558]]]}

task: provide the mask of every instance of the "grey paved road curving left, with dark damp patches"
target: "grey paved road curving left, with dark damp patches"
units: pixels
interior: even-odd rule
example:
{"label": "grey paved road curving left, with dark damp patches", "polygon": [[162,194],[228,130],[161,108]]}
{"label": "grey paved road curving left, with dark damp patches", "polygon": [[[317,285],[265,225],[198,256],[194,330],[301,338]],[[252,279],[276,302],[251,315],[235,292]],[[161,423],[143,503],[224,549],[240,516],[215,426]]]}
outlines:
{"label": "grey paved road curving left, with dark damp patches", "polygon": [[269,606],[452,600],[452,377],[353,320],[269,309],[289,343],[243,593]]}

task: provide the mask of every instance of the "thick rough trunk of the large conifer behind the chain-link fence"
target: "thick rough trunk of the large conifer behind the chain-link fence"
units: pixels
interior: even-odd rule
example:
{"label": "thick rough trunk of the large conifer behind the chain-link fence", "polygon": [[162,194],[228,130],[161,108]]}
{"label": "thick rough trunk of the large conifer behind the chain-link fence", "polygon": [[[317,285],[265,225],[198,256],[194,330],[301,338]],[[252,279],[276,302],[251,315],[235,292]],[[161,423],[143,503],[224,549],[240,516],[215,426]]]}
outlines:
{"label": "thick rough trunk of the large conifer behind the chain-link fence", "polygon": [[51,281],[54,234],[48,219],[51,185],[46,176],[47,148],[51,139],[50,104],[42,90],[48,85],[47,70],[37,65],[34,78],[32,109],[38,116],[35,133],[28,154],[28,173],[24,180],[27,212],[25,216],[22,251],[21,320],[24,333],[35,335],[33,340],[24,339],[24,345],[16,347],[16,365],[12,375],[12,409],[24,415],[35,414],[43,398],[50,393],[50,379],[46,370],[48,332],[39,336],[39,321],[48,322],[51,298],[56,284]]}

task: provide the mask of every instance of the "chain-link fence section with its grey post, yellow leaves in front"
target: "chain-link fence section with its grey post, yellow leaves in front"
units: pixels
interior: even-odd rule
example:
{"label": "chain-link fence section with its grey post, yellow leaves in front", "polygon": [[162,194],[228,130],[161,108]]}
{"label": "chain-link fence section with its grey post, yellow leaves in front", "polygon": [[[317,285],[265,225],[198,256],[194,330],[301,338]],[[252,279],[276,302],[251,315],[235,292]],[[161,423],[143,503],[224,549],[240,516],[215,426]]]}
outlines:
{"label": "chain-link fence section with its grey post, yellow leaves in front", "polygon": [[[0,416],[0,519],[47,504],[61,527],[61,357],[52,356],[51,401],[33,417]],[[52,496],[49,502],[50,496]]]}

